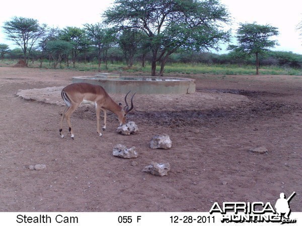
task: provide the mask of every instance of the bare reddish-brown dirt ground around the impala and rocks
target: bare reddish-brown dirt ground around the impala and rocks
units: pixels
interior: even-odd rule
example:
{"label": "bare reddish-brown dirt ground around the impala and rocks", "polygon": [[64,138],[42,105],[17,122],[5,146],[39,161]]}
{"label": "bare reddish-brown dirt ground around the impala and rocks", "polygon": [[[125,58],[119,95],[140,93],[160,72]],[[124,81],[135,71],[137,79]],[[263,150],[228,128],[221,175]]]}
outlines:
{"label": "bare reddish-brown dirt ground around the impala and rocks", "polygon": [[[301,76],[194,75],[194,94],[134,96],[136,135],[117,134],[110,113],[100,138],[94,107],[81,106],[71,118],[75,139],[66,123],[60,138],[60,87],[95,74],[0,67],[0,211],[208,212],[214,202],[275,204],[294,191],[291,211],[302,211]],[[34,88],[47,89],[29,100],[16,95]],[[161,133],[172,148],[148,148]],[[139,156],[113,156],[118,143]],[[249,151],[258,146],[268,152]],[[142,172],[152,161],[169,162],[168,176]]]}

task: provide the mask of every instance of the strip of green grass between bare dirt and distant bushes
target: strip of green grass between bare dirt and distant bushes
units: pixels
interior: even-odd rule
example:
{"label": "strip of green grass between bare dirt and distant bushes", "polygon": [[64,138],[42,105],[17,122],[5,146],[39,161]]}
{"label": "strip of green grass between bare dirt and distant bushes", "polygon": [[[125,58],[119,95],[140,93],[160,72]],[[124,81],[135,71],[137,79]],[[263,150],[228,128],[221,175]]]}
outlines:
{"label": "strip of green grass between bare dirt and distant bushes", "polygon": [[[17,61],[0,61],[0,66],[13,66]],[[29,67],[38,68],[39,62],[34,64],[29,63]],[[101,71],[108,72],[143,72],[150,73],[151,67],[147,64],[144,68],[140,64],[134,65],[133,69],[125,69],[126,65],[123,63],[108,63],[108,68],[102,63]],[[43,68],[52,68],[47,62],[43,63]],[[79,71],[97,71],[97,63],[75,63],[75,68],[72,64],[67,67],[64,64],[58,65],[57,69],[68,69],[68,70],[79,70]],[[160,66],[157,66],[157,71],[159,72]],[[165,73],[177,73],[183,75],[196,75],[196,74],[213,74],[213,75],[255,75],[256,67],[251,65],[205,65],[205,64],[184,64],[184,63],[173,63],[166,64]],[[283,67],[272,67],[272,66],[261,66],[259,69],[261,75],[302,75],[302,69],[292,69]]]}

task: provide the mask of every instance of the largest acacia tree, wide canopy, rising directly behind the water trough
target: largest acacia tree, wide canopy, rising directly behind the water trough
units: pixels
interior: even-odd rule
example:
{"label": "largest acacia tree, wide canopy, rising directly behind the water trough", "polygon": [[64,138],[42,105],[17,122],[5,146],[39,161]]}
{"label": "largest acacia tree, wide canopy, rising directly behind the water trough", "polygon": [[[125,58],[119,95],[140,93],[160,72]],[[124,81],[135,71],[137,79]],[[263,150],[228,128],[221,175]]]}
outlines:
{"label": "largest acacia tree, wide canopy, rising directly behind the water trough", "polygon": [[104,13],[105,22],[116,30],[137,29],[147,35],[152,51],[152,76],[178,48],[219,49],[219,41],[229,40],[223,23],[229,13],[218,0],[116,0]]}

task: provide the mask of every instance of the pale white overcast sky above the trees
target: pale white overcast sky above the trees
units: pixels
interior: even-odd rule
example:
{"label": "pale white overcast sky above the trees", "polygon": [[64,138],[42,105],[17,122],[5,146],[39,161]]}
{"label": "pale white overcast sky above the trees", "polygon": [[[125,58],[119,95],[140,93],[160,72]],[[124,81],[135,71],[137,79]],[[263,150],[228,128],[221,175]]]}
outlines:
{"label": "pale white overcast sky above the trees", "polygon": [[[279,46],[274,50],[292,51],[302,54],[302,36],[296,30],[302,21],[301,0],[220,0],[231,13],[233,24],[231,28],[236,32],[239,23],[269,24],[277,27],[279,35],[275,37]],[[2,32],[5,21],[12,17],[33,18],[40,24],[49,27],[64,28],[66,26],[82,27],[85,23],[95,24],[101,21],[101,14],[114,3],[114,0],[11,0],[2,4],[0,13],[0,43],[11,45]],[[10,46],[15,48],[14,46]],[[225,52],[224,46],[222,52]]]}

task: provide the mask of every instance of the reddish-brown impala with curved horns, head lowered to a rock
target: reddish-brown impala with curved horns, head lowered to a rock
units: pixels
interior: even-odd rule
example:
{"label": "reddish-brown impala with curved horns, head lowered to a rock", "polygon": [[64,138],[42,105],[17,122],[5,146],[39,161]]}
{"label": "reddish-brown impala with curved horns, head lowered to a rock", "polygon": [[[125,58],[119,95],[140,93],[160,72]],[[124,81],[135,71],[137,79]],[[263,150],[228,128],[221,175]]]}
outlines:
{"label": "reddish-brown impala with curved horns, head lowered to a rock", "polygon": [[62,133],[63,120],[66,117],[67,124],[69,126],[69,132],[71,134],[71,138],[74,138],[74,134],[70,124],[70,116],[71,114],[80,106],[81,103],[85,104],[93,104],[96,107],[96,115],[97,115],[97,133],[99,136],[102,136],[100,132],[100,111],[101,109],[104,111],[104,127],[103,131],[106,129],[106,115],[107,110],[114,112],[120,123],[125,124],[126,115],[133,109],[133,96],[131,97],[131,107],[129,108],[127,103],[127,95],[125,96],[126,106],[123,108],[121,103],[117,104],[112,98],[108,95],[105,89],[98,85],[88,84],[88,83],[74,83],[69,84],[64,87],[61,92],[62,99],[64,100],[66,107],[61,115],[60,122],[60,136],[64,137]]}

